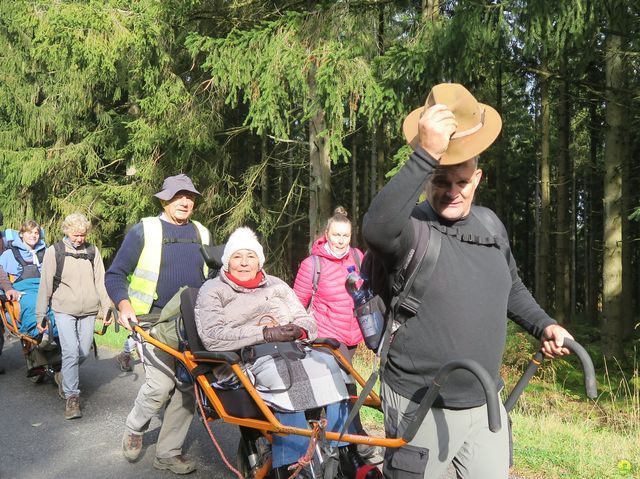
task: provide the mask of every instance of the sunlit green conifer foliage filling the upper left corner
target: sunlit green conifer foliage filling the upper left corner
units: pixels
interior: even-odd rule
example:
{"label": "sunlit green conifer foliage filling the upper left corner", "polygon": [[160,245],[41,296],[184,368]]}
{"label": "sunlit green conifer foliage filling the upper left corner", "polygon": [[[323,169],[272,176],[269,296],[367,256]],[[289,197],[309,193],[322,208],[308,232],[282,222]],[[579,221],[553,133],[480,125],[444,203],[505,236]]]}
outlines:
{"label": "sunlit green conifer foliage filling the upper left corner", "polygon": [[[165,174],[216,151],[218,118],[174,70],[159,2],[16,1],[0,5],[0,194],[10,224],[59,234],[81,210],[94,239],[153,214]],[[168,16],[171,18],[171,16]],[[213,168],[200,177],[212,181]],[[54,172],[55,174],[51,174]]]}

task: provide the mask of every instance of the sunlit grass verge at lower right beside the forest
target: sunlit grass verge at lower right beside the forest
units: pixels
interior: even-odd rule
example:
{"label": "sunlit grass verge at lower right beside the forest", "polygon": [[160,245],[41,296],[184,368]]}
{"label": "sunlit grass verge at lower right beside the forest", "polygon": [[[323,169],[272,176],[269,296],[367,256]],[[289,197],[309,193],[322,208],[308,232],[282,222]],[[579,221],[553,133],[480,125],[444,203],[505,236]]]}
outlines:
{"label": "sunlit grass verge at lower right beside the forest", "polygon": [[[585,345],[586,341],[582,344]],[[510,334],[502,377],[507,391],[517,382],[535,346]],[[526,479],[640,479],[640,377],[636,351],[624,365],[607,364],[597,345],[588,348],[596,367],[596,401],[584,396],[575,357],[545,361],[511,413],[512,473]],[[356,368],[368,377],[374,356],[361,348]],[[446,387],[446,385],[445,385]],[[382,414],[361,411],[365,428],[384,435]]]}

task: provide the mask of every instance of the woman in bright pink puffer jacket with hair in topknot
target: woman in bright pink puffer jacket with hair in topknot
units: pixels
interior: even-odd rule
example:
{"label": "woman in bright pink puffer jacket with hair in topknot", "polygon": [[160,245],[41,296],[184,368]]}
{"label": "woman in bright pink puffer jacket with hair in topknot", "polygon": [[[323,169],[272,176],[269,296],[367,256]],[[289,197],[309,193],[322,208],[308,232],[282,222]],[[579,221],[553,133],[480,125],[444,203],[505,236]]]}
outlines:
{"label": "woman in bright pink puffer jacket with hair in topknot", "polygon": [[293,286],[300,302],[316,320],[318,336],[340,341],[346,346],[349,359],[362,341],[353,315],[353,299],[344,284],[347,268],[355,265],[359,271],[362,260],[362,252],[350,243],[351,221],[346,210],[338,206],[327,221],[324,234],[313,243],[311,256],[302,261]]}

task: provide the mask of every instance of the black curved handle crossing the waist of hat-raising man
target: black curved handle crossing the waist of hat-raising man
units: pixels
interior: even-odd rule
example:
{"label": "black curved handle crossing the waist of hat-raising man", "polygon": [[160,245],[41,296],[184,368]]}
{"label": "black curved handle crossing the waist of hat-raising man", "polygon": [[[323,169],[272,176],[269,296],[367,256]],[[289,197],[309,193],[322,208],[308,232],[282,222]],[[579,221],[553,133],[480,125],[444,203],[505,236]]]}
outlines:
{"label": "black curved handle crossing the waist of hat-raising man", "polygon": [[487,370],[477,362],[471,359],[454,359],[453,361],[443,364],[436,373],[431,386],[429,386],[427,394],[425,394],[422,401],[420,401],[420,406],[418,406],[418,409],[416,410],[414,420],[409,424],[402,435],[403,440],[411,442],[415,437],[422,421],[424,421],[424,418],[429,412],[429,409],[431,409],[433,402],[438,397],[440,388],[446,381],[447,376],[456,369],[466,369],[478,379],[482,385],[482,389],[484,389],[484,395],[487,400],[489,429],[491,432],[498,432],[500,430],[502,427],[500,421],[500,402],[498,400],[498,391],[496,390],[495,381],[491,378]]}

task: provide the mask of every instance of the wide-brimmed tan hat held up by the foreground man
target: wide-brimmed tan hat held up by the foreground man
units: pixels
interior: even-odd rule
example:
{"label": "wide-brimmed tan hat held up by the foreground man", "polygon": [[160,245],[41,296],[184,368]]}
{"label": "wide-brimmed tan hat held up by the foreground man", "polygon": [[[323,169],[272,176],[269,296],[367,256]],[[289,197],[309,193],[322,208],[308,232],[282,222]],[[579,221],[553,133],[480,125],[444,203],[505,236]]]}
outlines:
{"label": "wide-brimmed tan hat held up by the foreground man", "polygon": [[402,131],[413,148],[418,144],[418,120],[426,108],[436,103],[447,105],[458,122],[458,129],[440,157],[441,165],[456,165],[479,155],[500,134],[502,119],[495,109],[479,103],[459,83],[440,83],[431,89],[424,106],[413,110],[404,119]]}

